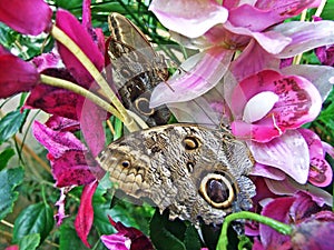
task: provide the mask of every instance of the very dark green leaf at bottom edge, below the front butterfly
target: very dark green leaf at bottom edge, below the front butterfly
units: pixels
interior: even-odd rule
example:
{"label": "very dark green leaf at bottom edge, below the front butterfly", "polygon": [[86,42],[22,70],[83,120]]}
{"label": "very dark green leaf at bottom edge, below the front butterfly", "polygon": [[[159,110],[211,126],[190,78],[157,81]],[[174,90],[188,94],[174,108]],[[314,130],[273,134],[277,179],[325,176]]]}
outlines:
{"label": "very dark green leaf at bottom edge, below the front butterfly", "polygon": [[158,250],[186,250],[186,246],[166,228],[166,216],[160,216],[159,211],[150,221],[150,240]]}

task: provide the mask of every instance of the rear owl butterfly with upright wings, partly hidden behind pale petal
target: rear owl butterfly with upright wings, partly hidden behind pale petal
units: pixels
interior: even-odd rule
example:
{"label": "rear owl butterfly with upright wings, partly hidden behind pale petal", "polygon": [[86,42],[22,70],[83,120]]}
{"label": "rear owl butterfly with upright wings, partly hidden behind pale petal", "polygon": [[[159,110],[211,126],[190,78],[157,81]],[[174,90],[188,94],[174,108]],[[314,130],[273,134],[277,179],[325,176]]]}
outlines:
{"label": "rear owl butterfly with upright wings, partly hidden behind pale petal", "polygon": [[108,23],[112,78],[124,106],[150,127],[166,124],[170,117],[167,107],[149,108],[153,89],[169,77],[165,58],[155,52],[145,34],[126,17],[110,13]]}

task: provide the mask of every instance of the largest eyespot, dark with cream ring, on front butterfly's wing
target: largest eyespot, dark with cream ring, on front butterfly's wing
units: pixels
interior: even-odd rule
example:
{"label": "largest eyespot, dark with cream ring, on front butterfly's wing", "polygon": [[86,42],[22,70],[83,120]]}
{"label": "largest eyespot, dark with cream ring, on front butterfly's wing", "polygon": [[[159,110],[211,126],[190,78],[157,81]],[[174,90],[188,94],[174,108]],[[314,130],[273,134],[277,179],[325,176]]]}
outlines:
{"label": "largest eyespot, dark with cream ring, on front butterfly's wing", "polygon": [[198,192],[212,207],[227,209],[233,204],[237,187],[227,174],[208,173],[203,178]]}

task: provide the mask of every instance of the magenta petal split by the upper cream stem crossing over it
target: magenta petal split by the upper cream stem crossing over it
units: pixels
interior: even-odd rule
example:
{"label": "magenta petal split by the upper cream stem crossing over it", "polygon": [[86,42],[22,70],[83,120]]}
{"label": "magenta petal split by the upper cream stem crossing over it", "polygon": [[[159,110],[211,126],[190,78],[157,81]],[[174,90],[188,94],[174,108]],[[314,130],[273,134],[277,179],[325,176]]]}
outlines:
{"label": "magenta petal split by the upper cream stem crossing over it", "polygon": [[[56,16],[56,24],[66,32],[90,59],[98,70],[102,70],[105,59],[98,46],[92,41],[89,33],[80,24],[80,22],[66,10],[58,10]],[[57,42],[58,51],[66,67],[70,70],[76,80],[84,87],[89,88],[92,78],[90,73],[82,67],[81,62],[60,42]]]}

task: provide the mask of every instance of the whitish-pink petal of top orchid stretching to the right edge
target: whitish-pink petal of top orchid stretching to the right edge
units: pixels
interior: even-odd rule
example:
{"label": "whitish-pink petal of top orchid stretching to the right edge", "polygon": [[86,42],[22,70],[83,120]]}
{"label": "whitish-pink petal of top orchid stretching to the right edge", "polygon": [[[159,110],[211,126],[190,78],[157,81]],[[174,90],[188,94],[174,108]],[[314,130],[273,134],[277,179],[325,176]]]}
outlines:
{"label": "whitish-pink petal of top orchid stretching to the right edge", "polygon": [[279,58],[291,58],[311,49],[334,43],[333,21],[291,21],[275,26],[272,30],[292,39],[292,42],[277,54]]}

